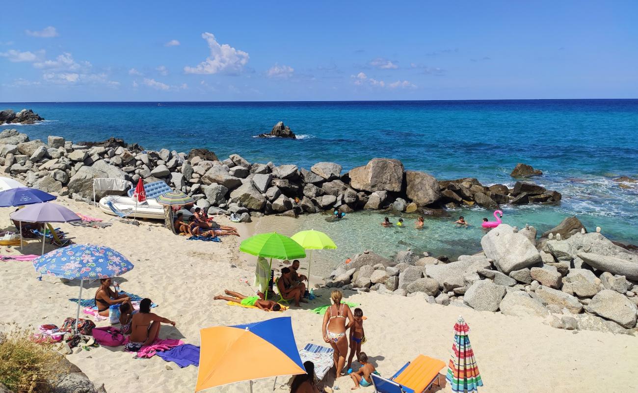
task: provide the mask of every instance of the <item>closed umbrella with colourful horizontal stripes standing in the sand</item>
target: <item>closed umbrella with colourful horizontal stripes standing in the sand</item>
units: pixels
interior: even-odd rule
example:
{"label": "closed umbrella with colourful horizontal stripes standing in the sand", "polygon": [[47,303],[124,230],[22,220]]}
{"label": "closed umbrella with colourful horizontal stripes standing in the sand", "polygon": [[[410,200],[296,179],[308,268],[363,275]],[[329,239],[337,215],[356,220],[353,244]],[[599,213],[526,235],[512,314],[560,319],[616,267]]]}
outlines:
{"label": "closed umbrella with colourful horizontal stripes standing in the sand", "polygon": [[468,333],[470,333],[470,327],[465,323],[463,316],[459,315],[454,325],[452,357],[450,357],[447,376],[445,376],[452,387],[452,392],[479,392],[479,386],[483,386]]}

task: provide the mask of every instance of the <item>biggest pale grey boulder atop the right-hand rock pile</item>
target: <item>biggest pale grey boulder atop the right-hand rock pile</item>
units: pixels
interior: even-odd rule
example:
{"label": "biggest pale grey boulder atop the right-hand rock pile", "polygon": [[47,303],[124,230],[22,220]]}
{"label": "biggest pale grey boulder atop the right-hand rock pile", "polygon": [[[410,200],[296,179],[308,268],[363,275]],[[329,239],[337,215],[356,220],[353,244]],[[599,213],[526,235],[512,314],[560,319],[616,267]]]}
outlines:
{"label": "biggest pale grey boulder atop the right-hand rock pile", "polygon": [[540,253],[521,233],[515,233],[507,224],[491,229],[480,241],[487,258],[494,261],[500,272],[510,274],[539,263]]}

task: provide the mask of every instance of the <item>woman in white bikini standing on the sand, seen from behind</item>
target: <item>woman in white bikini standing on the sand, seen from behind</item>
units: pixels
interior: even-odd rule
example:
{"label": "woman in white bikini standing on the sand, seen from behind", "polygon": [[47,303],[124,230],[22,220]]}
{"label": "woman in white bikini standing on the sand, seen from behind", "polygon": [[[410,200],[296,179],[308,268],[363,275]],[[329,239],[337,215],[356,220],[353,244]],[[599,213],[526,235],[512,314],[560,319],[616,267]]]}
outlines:
{"label": "woman in white bikini standing on the sand, seen from behind", "polygon": [[[329,343],[334,350],[333,360],[334,367],[336,367],[335,375],[338,377],[341,374],[341,369],[346,362],[348,356],[348,337],[346,337],[346,330],[350,328],[354,323],[352,311],[347,304],[341,303],[343,297],[341,291],[332,291],[330,299],[334,304],[330,305],[323,314],[323,341]],[[348,323],[346,323],[348,320]]]}

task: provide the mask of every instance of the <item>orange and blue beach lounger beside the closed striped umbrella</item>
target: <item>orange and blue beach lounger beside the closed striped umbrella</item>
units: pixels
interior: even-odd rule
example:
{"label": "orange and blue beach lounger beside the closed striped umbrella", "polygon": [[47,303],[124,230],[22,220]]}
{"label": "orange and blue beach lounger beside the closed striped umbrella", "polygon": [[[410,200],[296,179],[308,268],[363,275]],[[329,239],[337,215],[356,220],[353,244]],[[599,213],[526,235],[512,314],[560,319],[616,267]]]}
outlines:
{"label": "orange and blue beach lounger beside the closed striped umbrella", "polygon": [[390,379],[372,374],[372,383],[378,393],[422,393],[439,386],[440,371],[445,367],[441,360],[419,355],[407,362]]}

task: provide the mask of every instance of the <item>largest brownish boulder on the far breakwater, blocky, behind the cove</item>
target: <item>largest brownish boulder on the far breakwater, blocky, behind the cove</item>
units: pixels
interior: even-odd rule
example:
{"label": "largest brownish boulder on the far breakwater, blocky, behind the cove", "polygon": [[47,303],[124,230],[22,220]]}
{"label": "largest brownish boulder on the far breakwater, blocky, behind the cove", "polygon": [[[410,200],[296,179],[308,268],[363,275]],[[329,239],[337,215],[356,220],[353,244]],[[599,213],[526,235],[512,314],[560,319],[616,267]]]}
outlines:
{"label": "largest brownish boulder on the far breakwater, blocky, behind the cove", "polygon": [[403,164],[392,158],[373,158],[366,166],[348,172],[350,186],[355,190],[400,192],[403,185]]}

